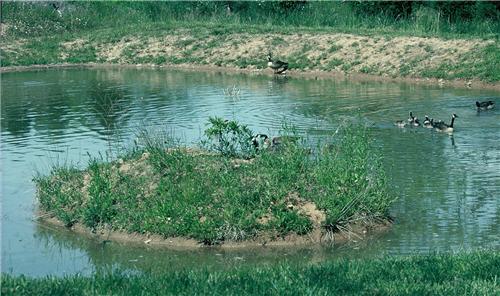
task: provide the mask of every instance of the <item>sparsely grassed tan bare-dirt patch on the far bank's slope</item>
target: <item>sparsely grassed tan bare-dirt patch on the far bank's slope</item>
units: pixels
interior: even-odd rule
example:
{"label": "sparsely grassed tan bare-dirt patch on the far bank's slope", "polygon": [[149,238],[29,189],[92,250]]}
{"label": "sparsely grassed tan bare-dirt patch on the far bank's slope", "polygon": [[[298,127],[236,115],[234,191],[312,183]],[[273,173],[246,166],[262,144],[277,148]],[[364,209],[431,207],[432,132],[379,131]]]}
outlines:
{"label": "sparsely grassed tan bare-dirt patch on the far bank's slope", "polygon": [[[493,40],[443,40],[422,37],[367,37],[352,34],[266,34],[247,33],[207,36],[196,39],[185,34],[168,34],[139,41],[123,38],[101,45],[98,55],[105,61],[127,62],[133,57],[184,58],[188,63],[265,68],[266,55],[292,60],[302,70],[337,70],[385,76],[415,75],[443,63],[456,64]],[[128,49],[128,54],[124,54]]]}

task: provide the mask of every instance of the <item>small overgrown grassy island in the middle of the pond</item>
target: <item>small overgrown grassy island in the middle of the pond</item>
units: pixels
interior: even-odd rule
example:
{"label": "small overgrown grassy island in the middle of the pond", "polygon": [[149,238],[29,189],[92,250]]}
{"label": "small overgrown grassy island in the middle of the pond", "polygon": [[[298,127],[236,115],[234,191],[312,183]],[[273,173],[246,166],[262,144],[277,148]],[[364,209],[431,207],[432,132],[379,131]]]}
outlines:
{"label": "small overgrown grassy island in the middle of the pond", "polygon": [[331,234],[353,221],[388,218],[393,198],[365,128],[344,128],[315,152],[290,131],[280,144],[255,149],[252,134],[235,121],[211,118],[206,148],[194,149],[145,132],[143,146],[117,161],[92,159],[83,171],[56,167],[37,176],[41,209],[68,226],[205,244],[315,228]]}

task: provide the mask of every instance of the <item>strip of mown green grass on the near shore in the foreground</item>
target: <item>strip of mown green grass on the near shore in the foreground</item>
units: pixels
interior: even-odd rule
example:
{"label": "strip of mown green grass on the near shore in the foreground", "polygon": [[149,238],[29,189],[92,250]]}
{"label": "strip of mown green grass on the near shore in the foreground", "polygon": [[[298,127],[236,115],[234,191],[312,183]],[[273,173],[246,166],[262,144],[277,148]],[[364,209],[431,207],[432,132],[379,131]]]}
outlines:
{"label": "strip of mown green grass on the near shore in the foreground", "polygon": [[283,263],[163,275],[2,275],[2,295],[498,295],[500,253],[478,251],[319,265]]}

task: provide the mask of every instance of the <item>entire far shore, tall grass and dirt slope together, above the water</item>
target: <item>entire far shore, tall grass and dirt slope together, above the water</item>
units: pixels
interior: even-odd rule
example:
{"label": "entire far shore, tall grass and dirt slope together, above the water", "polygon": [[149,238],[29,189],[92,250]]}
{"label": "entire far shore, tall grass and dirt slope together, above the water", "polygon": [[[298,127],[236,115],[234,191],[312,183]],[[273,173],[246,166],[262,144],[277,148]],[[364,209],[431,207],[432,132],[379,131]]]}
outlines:
{"label": "entire far shore, tall grass and dirt slope together, above the water", "polygon": [[[263,69],[266,53],[273,51],[290,69],[302,71],[489,82],[500,76],[498,2],[6,2],[2,7],[1,67],[117,63]],[[413,44],[401,36],[440,39]],[[454,43],[457,39],[463,42]],[[415,58],[423,62],[408,63]]]}

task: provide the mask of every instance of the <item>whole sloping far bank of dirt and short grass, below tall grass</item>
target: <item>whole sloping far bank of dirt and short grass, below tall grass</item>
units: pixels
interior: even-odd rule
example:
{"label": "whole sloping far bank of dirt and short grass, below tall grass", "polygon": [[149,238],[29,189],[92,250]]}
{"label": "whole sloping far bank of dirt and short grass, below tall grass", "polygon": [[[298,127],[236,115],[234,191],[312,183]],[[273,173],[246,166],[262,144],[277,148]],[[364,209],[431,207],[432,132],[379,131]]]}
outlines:
{"label": "whole sloping far bank of dirt and short grass, below tall grass", "polygon": [[[33,41],[2,45],[2,72],[33,64],[139,65],[270,73],[266,55],[289,62],[288,75],[409,81],[499,89],[495,40],[358,36],[342,33],[156,32],[120,38],[80,36],[54,42],[50,59]],[[489,54],[485,53],[489,52]],[[493,55],[491,54],[493,52]],[[48,54],[48,53],[47,53]],[[29,60],[23,57],[30,56]],[[37,62],[40,61],[40,62]],[[43,61],[43,62],[42,62]],[[37,66],[38,67],[38,66]],[[45,67],[45,66],[40,66]],[[496,71],[496,72],[495,72]]]}

